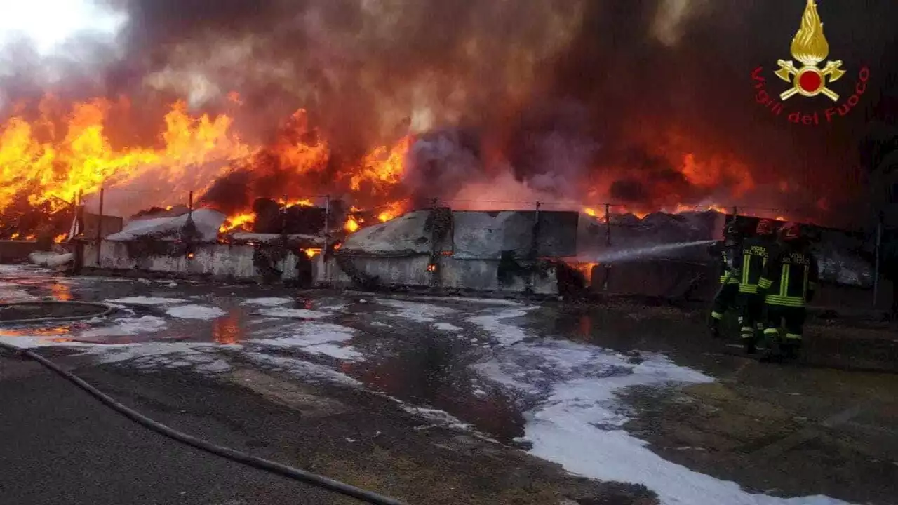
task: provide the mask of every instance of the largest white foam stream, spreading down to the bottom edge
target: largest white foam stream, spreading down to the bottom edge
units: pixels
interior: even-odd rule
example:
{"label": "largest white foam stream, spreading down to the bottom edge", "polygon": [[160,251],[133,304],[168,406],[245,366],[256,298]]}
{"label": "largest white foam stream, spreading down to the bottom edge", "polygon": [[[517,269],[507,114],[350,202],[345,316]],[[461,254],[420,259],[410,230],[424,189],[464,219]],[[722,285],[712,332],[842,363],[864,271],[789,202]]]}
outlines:
{"label": "largest white foam stream, spreading down to the bottom edge", "polygon": [[575,474],[604,481],[645,484],[664,505],[726,503],[726,505],[846,505],[823,496],[781,499],[744,492],[739,484],[694,472],[657,456],[647,442],[621,427],[627,411],[616,394],[632,385],[712,382],[700,372],[675,365],[657,354],[644,353],[641,363],[611,350],[570,341],[524,342],[524,330],[503,319],[517,311],[500,311],[472,318],[500,342],[493,356],[475,370],[489,379],[540,400],[524,412],[530,453],[564,465]]}

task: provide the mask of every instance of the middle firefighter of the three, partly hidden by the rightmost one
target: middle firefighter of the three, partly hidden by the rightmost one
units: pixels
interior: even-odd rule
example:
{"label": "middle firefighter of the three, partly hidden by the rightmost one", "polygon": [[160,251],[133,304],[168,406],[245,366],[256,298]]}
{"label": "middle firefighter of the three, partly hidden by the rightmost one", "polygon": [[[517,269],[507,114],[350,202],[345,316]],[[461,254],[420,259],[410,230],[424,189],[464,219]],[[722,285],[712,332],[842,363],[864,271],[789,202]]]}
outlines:
{"label": "middle firefighter of the three, partly hidden by the rightmost one", "polygon": [[762,219],[755,227],[754,236],[744,241],[742,252],[736,258],[742,274],[739,278],[739,336],[748,354],[754,354],[756,350],[756,330],[764,327],[764,298],[758,295],[758,280],[775,246],[775,225],[770,219]]}

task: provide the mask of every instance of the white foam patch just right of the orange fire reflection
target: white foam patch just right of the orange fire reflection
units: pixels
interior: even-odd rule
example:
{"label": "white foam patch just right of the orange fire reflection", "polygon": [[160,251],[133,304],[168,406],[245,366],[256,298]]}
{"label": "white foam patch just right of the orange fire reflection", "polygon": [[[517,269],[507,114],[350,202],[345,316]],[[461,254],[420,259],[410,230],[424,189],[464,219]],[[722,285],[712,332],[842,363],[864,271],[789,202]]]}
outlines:
{"label": "white foam patch just right of the orange fire reflection", "polygon": [[362,353],[345,345],[345,342],[355,336],[355,330],[339,324],[291,324],[286,328],[277,329],[273,333],[276,335],[274,338],[254,340],[252,343],[281,349],[299,349],[337,359],[361,360],[365,358]]}

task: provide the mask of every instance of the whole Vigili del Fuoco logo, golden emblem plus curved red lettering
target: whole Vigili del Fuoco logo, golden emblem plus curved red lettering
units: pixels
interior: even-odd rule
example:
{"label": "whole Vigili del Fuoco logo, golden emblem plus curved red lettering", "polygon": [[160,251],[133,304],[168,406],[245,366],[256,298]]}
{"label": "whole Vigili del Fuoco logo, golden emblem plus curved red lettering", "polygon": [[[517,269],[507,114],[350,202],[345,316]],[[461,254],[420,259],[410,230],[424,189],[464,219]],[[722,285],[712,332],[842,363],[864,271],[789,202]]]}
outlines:
{"label": "whole Vigili del Fuoco logo, golden emblem plus curved red lettering", "polygon": [[[762,75],[764,67],[758,66],[753,70],[752,81],[756,90],[754,96],[756,102],[769,109],[775,116],[786,113],[789,122],[807,126],[837,120],[841,116],[848,115],[858,105],[867,91],[870,69],[867,66],[860,67],[858,78],[848,92],[850,95],[843,91],[846,95],[841,96],[829,87],[829,84],[839,81],[846,74],[846,70],[842,69],[841,59],[828,60],[823,67],[820,66],[829,56],[830,44],[823,35],[823,22],[817,13],[817,4],[814,0],[807,0],[805,13],[801,16],[801,26],[792,39],[791,51],[792,58],[798,61],[798,65],[791,59],[780,59],[777,61],[779,70],[773,73],[789,84],[779,96],[774,94],[776,92],[768,91],[767,79]],[[773,84],[770,84],[770,89],[773,88]],[[830,99],[832,106],[815,111],[810,109],[789,111],[785,106],[786,102],[800,103],[798,99],[801,97],[810,98],[818,95]]]}

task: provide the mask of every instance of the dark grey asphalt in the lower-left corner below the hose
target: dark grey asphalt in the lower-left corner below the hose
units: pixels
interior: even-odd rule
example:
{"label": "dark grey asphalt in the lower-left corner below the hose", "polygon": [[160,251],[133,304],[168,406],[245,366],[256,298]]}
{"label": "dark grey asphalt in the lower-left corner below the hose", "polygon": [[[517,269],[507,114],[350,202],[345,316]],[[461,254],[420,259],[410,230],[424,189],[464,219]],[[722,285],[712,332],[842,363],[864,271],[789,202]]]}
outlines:
{"label": "dark grey asphalt in the lower-left corner below the hose", "polygon": [[[85,379],[107,383],[100,371]],[[0,355],[0,502],[20,505],[332,503],[303,483],[239,465],[138,427],[55,374]],[[153,412],[178,421],[178,412]],[[168,418],[168,419],[166,419]],[[207,418],[190,426],[233,447],[253,438]]]}

